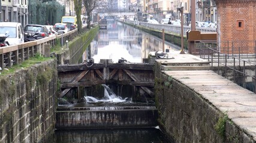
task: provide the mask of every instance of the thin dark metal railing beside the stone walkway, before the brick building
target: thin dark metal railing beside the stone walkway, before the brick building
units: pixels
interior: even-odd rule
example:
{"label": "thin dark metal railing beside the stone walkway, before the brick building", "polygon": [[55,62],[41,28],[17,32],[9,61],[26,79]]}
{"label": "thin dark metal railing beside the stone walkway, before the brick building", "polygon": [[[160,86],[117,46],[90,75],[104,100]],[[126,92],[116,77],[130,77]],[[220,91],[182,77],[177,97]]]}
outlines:
{"label": "thin dark metal railing beside the stone walkway, before the brick building", "polygon": [[[212,67],[215,64],[218,74],[222,74],[220,69],[224,67],[225,78],[228,77],[227,70],[233,70],[230,76],[233,76],[234,83],[237,77],[242,77],[243,88],[246,88],[246,79],[251,78],[256,93],[256,41],[197,43],[195,50],[199,51],[200,58],[210,61]],[[246,72],[246,66],[254,70],[254,73]]]}

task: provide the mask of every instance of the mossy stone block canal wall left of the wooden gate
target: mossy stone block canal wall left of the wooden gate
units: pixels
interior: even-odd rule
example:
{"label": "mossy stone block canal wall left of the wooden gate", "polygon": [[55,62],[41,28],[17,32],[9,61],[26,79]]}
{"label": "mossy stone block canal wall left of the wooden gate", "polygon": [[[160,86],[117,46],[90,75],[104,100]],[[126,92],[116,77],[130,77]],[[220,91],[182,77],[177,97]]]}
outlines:
{"label": "mossy stone block canal wall left of the wooden gate", "polygon": [[40,142],[55,129],[56,61],[0,76],[0,142]]}

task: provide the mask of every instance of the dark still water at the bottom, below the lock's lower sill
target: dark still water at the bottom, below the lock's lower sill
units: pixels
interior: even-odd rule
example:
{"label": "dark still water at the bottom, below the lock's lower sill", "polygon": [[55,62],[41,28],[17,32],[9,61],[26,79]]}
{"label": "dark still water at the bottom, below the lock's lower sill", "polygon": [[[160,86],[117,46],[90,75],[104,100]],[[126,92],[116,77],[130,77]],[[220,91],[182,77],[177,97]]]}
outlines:
{"label": "dark still water at the bottom, below the lock's lower sill", "polygon": [[56,142],[93,142],[93,143],[134,143],[134,142],[170,142],[161,130],[144,129],[90,129],[56,130]]}

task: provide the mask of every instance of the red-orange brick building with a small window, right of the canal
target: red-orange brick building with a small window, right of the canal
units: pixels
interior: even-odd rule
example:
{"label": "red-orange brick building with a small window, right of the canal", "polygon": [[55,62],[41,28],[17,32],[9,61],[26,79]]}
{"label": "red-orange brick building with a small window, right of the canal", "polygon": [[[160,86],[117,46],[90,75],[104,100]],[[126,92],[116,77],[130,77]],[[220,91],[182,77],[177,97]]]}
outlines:
{"label": "red-orange brick building with a small window, right of the canal", "polygon": [[217,33],[221,52],[255,53],[256,1],[215,0],[218,11]]}

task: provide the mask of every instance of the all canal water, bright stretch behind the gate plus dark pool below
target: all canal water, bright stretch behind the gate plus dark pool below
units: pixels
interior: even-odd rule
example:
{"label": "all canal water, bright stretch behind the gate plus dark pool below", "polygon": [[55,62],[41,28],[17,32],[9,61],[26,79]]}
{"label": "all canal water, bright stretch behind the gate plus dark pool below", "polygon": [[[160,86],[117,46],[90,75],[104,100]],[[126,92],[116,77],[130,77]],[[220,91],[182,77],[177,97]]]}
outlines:
{"label": "all canal water, bright stretch behind the gate plus dark pool below", "polygon": [[[118,21],[108,21],[107,30],[100,29],[90,46],[86,48],[79,63],[86,59],[112,59],[113,63],[124,58],[129,63],[142,63],[150,52],[162,51],[162,39],[125,25]],[[164,50],[179,52],[179,46],[165,42]],[[56,130],[49,142],[174,142],[166,139],[156,127],[132,129],[74,129]]]}

